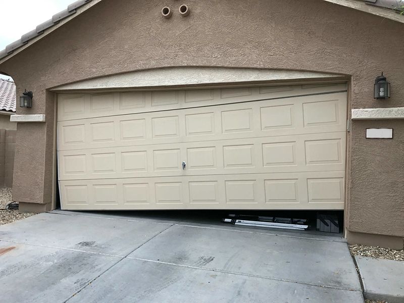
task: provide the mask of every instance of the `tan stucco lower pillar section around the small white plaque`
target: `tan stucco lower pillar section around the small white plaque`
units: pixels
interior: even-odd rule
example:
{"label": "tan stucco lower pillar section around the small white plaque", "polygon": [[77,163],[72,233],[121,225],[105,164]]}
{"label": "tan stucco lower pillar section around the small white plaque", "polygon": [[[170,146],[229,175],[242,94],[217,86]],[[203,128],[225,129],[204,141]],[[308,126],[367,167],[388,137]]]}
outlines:
{"label": "tan stucco lower pillar section around the small white plaque", "polygon": [[[393,128],[393,139],[364,139],[371,127]],[[404,121],[353,121],[352,133],[349,229],[403,236]]]}

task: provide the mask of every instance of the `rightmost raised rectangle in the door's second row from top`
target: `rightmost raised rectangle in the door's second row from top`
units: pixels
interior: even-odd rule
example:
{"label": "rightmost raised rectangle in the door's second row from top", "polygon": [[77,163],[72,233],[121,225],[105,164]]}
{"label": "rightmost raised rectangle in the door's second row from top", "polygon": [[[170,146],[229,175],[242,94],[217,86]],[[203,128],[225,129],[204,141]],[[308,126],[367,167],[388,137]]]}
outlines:
{"label": "rightmost raised rectangle in the door's second row from top", "polygon": [[303,104],[305,127],[337,125],[338,100],[312,102]]}

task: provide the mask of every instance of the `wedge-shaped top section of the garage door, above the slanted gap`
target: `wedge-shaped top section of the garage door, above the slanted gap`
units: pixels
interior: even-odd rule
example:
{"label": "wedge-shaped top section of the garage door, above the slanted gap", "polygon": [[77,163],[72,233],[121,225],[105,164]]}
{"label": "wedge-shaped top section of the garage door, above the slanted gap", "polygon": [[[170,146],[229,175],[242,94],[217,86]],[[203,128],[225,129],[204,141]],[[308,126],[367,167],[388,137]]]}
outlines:
{"label": "wedge-shaped top section of the garage door, above the slanted gap", "polygon": [[58,94],[58,121],[158,112],[346,90],[346,84]]}

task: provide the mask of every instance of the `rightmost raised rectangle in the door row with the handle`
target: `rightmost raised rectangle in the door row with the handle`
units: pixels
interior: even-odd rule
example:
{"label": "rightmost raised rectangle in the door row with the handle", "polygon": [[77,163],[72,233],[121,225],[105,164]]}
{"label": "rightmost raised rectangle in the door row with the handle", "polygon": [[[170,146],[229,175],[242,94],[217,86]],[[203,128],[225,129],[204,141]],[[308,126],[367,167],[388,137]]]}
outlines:
{"label": "rightmost raised rectangle in the door row with the handle", "polygon": [[341,159],[341,139],[306,141],[306,164],[339,164]]}

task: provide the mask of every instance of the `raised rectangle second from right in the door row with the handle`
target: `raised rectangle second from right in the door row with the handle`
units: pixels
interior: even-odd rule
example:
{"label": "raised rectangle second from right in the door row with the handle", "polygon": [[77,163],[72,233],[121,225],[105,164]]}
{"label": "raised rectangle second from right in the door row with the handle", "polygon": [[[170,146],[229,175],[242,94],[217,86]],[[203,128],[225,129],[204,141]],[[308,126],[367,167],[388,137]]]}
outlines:
{"label": "raised rectangle second from right in the door row with the handle", "polygon": [[296,142],[262,144],[264,166],[296,165]]}

